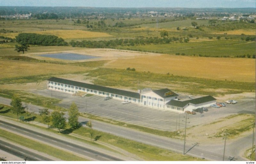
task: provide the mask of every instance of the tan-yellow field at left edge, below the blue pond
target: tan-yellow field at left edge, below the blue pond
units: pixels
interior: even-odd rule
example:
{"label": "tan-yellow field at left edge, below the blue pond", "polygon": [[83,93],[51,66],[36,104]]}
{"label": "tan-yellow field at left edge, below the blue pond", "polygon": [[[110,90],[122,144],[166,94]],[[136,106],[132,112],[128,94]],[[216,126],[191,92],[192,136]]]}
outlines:
{"label": "tan-yellow field at left edge, below the blue pond", "polygon": [[0,60],[0,78],[32,76],[39,74],[63,74],[87,71],[83,66],[67,66],[61,64],[26,62],[17,60]]}

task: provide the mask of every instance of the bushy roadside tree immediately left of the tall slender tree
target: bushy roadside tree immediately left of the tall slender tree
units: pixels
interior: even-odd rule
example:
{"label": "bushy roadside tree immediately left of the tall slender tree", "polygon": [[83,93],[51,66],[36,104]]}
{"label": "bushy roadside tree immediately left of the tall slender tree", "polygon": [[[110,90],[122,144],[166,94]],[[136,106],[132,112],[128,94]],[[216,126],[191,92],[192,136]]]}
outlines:
{"label": "bushy roadside tree immediately left of the tall slender tree", "polygon": [[54,111],[51,114],[52,127],[57,128],[60,132],[60,129],[66,128],[66,118],[64,113],[60,111]]}

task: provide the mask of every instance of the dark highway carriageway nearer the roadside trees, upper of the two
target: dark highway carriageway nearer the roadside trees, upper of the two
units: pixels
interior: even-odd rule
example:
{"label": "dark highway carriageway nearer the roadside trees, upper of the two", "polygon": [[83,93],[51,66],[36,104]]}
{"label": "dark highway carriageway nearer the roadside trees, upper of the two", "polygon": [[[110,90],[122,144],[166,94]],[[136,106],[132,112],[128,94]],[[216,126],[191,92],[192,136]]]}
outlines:
{"label": "dark highway carriageway nearer the roadside trees, upper of the two", "polygon": [[83,147],[83,146],[80,146],[77,144],[72,144],[67,141],[60,140],[60,139],[57,139],[57,138],[54,138],[54,137],[51,137],[48,135],[44,135],[42,133],[38,133],[38,132],[30,130],[30,129],[26,129],[26,128],[23,128],[23,127],[20,127],[17,125],[13,125],[8,122],[0,121],[0,127],[12,130],[14,132],[18,132],[22,135],[32,137],[32,138],[35,138],[37,140],[40,140],[40,141],[43,141],[43,142],[46,142],[49,144],[52,144],[56,147],[60,147],[60,148],[67,149],[72,152],[76,152],[78,154],[85,155],[94,160],[99,160],[99,161],[108,161],[108,160],[109,161],[120,161],[121,160],[119,158],[112,157],[107,154],[97,152],[97,151],[88,149],[86,147]]}

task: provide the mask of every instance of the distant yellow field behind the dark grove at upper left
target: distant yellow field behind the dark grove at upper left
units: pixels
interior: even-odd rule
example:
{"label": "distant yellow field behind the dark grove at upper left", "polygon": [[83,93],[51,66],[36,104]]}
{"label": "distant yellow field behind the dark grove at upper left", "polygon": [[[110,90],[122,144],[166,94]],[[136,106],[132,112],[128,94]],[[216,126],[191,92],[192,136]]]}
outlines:
{"label": "distant yellow field behind the dark grove at upper left", "polygon": [[[83,30],[48,30],[48,31],[36,31],[36,32],[28,32],[28,33],[36,33],[36,34],[44,34],[44,35],[56,35],[63,39],[74,39],[74,38],[102,38],[102,37],[111,37],[107,33],[101,32],[91,32],[91,31],[83,31]],[[6,33],[1,34],[5,37],[15,38],[20,33]]]}

